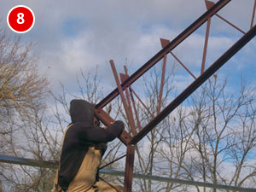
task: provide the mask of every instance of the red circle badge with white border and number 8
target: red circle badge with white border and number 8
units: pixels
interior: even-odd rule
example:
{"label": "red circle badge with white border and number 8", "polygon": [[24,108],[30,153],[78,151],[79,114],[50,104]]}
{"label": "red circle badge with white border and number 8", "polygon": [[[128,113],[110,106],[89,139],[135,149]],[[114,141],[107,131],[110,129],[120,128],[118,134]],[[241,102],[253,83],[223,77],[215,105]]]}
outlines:
{"label": "red circle badge with white border and number 8", "polygon": [[24,5],[18,5],[9,10],[7,23],[14,32],[28,32],[34,26],[35,15],[32,9]]}

